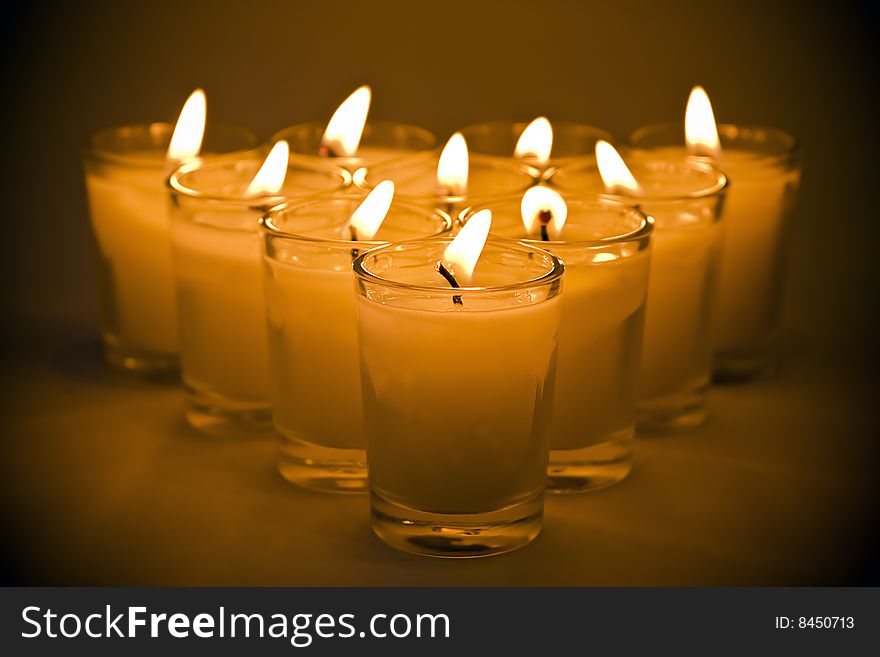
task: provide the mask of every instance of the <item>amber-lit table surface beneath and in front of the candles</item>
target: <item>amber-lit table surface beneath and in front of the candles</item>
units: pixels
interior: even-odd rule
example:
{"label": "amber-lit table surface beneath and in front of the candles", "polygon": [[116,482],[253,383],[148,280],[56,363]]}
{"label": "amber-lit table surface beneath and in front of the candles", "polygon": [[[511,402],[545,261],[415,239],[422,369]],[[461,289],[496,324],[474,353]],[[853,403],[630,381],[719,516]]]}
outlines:
{"label": "amber-lit table surface beneath and in front of the candles", "polygon": [[365,495],[286,483],[271,438],[201,436],[178,387],[108,370],[91,320],[70,315],[7,338],[3,511],[28,583],[836,584],[867,556],[869,400],[809,349],[713,389],[703,427],[640,437],[621,484],[550,497],[532,545],[456,561],[386,548]]}

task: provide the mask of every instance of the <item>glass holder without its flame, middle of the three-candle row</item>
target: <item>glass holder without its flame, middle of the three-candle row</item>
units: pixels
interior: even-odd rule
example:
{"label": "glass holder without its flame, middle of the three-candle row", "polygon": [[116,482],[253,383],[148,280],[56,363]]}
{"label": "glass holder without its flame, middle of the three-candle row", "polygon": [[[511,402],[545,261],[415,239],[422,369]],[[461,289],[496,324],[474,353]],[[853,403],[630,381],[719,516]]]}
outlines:
{"label": "glass holder without its flame, middle of the three-candle row", "polygon": [[522,194],[534,184],[528,170],[513,160],[471,155],[468,158],[467,191],[450,194],[437,182],[440,152],[414,153],[377,164],[358,181],[358,185],[370,190],[383,180],[391,180],[395,196],[413,203],[434,205],[454,219],[467,205]]}

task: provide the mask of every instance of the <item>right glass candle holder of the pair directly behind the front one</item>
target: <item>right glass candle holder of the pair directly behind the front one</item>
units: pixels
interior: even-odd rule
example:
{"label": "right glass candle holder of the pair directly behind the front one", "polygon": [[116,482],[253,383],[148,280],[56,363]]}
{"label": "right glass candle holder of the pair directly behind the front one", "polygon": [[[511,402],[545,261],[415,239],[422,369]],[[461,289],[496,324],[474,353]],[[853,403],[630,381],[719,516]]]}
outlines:
{"label": "right glass candle holder of the pair directly behind the front one", "polygon": [[[548,242],[525,232],[521,197],[487,206],[492,234],[525,239],[565,263],[547,470],[547,488],[556,493],[610,486],[632,467],[653,227],[624,204],[576,197],[566,203],[560,240]],[[468,210],[465,221],[480,209]]]}

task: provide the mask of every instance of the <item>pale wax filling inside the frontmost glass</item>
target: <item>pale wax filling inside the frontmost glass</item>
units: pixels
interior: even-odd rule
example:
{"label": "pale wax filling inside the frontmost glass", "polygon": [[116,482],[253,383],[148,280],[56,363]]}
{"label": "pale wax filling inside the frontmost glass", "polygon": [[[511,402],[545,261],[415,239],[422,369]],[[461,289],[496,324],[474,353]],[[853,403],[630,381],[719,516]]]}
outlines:
{"label": "pale wax filling inside the frontmost glass", "polygon": [[[442,303],[442,306],[440,305]],[[436,513],[506,507],[544,486],[544,383],[559,297],[496,310],[359,298],[370,486]]]}

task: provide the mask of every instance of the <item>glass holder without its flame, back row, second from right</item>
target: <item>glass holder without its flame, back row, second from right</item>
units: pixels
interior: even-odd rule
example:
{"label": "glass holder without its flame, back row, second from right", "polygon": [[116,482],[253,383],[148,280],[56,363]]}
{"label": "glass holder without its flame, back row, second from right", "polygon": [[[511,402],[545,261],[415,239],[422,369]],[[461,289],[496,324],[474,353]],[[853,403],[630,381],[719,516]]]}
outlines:
{"label": "glass holder without its flame, back row, second from right", "polygon": [[[514,158],[517,141],[529,124],[525,121],[487,121],[462,130],[471,153],[492,158]],[[553,148],[546,164],[533,159],[518,160],[527,167],[535,180],[549,182],[558,168],[573,160],[596,161],[596,142],[612,141],[609,133],[585,123],[553,121]]]}

